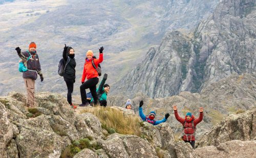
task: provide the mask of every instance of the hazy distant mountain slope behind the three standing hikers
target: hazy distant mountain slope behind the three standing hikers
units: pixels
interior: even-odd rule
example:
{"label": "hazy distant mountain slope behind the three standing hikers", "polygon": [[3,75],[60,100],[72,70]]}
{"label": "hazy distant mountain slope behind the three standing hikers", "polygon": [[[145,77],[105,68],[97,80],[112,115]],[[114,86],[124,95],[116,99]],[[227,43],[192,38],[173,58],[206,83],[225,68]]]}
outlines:
{"label": "hazy distant mountain slope behind the three standing hikers", "polygon": [[139,63],[150,46],[161,41],[168,28],[195,28],[217,2],[17,0],[1,5],[0,94],[7,94],[6,89],[23,92],[23,86],[19,86],[23,80],[17,72],[16,46],[26,50],[29,42],[37,43],[45,80],[37,82],[36,89],[59,93],[66,91],[66,87],[57,74],[58,61],[63,45],[72,46],[77,61],[77,94],[88,49],[98,56],[98,47],[105,47],[102,71],[109,74],[108,83],[113,84]]}

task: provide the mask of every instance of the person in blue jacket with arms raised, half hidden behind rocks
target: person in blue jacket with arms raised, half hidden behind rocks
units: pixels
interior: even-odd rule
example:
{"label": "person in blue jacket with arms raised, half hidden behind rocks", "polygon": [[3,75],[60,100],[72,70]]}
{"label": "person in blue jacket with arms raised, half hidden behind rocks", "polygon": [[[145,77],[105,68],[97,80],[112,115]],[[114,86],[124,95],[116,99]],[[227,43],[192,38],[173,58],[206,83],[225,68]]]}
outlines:
{"label": "person in blue jacket with arms raised, half hidden behind rocks", "polygon": [[142,106],[143,106],[143,100],[140,101],[140,106],[139,106],[139,114],[140,114],[141,119],[143,121],[146,121],[146,122],[151,123],[153,125],[158,125],[162,122],[165,122],[167,120],[167,118],[170,116],[169,113],[166,113],[165,117],[162,120],[156,121],[155,120],[156,113],[154,111],[152,111],[152,112],[150,112],[150,115],[147,117],[143,114]]}

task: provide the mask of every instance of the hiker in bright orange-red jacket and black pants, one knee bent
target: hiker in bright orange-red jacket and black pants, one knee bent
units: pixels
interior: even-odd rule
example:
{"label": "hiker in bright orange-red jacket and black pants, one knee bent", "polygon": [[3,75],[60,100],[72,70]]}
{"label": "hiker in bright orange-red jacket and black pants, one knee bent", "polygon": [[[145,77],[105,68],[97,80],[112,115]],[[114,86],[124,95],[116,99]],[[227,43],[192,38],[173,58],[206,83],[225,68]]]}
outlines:
{"label": "hiker in bright orange-red jacket and black pants, one knee bent", "polygon": [[[86,53],[86,62],[84,63],[84,66],[83,66],[82,79],[81,79],[82,85],[80,86],[80,94],[81,94],[81,100],[82,100],[82,103],[79,105],[80,107],[90,105],[90,102],[88,102],[87,95],[86,95],[86,89],[88,89],[88,88],[90,89],[93,98],[95,98],[95,100],[94,100],[95,103],[96,104],[98,103],[96,85],[99,82],[99,74],[98,74],[97,70],[93,67],[92,60],[95,64],[96,68],[98,68],[98,64],[103,61],[103,50],[104,50],[104,47],[101,46],[99,48],[99,58],[98,59],[93,58],[92,50],[88,50]],[[84,80],[86,78],[87,78],[87,81],[84,82]]]}

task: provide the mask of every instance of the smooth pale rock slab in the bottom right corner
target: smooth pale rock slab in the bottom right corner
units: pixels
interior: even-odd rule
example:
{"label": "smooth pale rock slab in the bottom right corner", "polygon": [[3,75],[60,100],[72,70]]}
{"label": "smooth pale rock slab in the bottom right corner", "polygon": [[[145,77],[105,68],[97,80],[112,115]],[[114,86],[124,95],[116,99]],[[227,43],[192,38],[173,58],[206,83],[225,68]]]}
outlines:
{"label": "smooth pale rock slab in the bottom right corner", "polygon": [[232,140],[215,146],[197,148],[195,151],[201,158],[214,157],[255,157],[256,141]]}

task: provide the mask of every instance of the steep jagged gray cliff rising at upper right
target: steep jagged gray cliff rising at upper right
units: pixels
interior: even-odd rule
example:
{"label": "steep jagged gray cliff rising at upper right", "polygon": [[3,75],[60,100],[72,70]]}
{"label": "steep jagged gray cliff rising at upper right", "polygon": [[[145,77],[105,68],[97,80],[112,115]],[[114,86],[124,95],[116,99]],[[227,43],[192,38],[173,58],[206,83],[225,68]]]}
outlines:
{"label": "steep jagged gray cliff rising at upper right", "polygon": [[[116,84],[123,90],[164,97],[200,92],[231,74],[255,73],[255,1],[221,1],[192,33],[169,31],[135,69]],[[131,97],[131,94],[127,94]]]}

